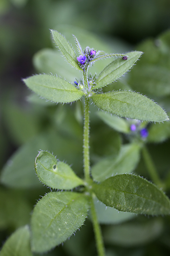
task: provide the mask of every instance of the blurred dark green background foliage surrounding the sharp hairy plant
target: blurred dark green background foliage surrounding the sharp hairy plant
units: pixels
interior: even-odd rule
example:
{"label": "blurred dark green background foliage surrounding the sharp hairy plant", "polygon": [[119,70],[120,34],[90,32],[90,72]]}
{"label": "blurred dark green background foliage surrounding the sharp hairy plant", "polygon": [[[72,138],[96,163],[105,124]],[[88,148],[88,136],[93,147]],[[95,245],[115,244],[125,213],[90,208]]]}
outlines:
{"label": "blurred dark green background foliage surrounding the sharp hairy plant", "polygon": [[[50,72],[70,82],[81,78],[55,48],[49,29],[60,31],[73,47],[75,34],[82,47],[107,53],[143,51],[134,69],[104,91],[135,90],[170,111],[169,0],[0,0],[1,244],[18,227],[29,224],[36,200],[50,191],[35,175],[39,149],[53,152],[82,176],[83,100],[71,105],[46,102],[21,81]],[[91,73],[99,73],[109,62],[98,61]],[[90,111],[91,164],[121,156],[122,145],[129,142],[126,132],[103,122],[94,105]],[[129,129],[131,123],[125,122]],[[146,143],[169,195],[170,124],[149,124],[148,129]],[[131,171],[151,180],[143,158],[138,158]],[[169,216],[118,215],[108,209],[106,222],[104,208],[96,202],[107,256],[169,255]],[[48,255],[96,255],[90,221]]]}

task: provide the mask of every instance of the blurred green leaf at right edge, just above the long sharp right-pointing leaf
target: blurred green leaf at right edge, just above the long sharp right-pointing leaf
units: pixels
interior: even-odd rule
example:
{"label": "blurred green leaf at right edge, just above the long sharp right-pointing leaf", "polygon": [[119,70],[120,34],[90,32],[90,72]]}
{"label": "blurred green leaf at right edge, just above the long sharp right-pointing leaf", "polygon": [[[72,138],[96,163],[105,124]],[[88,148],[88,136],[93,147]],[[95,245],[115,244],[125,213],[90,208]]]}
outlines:
{"label": "blurred green leaf at right edge, just above the long sharp right-pointing leaf", "polygon": [[167,67],[143,64],[130,75],[130,85],[140,93],[154,96],[170,95],[170,72]]}

